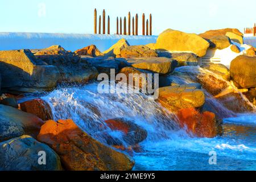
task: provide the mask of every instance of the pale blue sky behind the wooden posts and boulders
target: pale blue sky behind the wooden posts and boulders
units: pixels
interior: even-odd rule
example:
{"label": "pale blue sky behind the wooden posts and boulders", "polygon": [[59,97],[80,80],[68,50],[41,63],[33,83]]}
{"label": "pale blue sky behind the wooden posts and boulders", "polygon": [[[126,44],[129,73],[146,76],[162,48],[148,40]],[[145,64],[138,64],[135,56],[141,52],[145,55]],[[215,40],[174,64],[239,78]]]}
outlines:
{"label": "pale blue sky behind the wooden posts and boulders", "polygon": [[117,16],[151,13],[153,34],[166,28],[200,33],[217,28],[252,27],[255,0],[0,0],[0,32],[93,33],[93,11],[105,9],[115,33]]}

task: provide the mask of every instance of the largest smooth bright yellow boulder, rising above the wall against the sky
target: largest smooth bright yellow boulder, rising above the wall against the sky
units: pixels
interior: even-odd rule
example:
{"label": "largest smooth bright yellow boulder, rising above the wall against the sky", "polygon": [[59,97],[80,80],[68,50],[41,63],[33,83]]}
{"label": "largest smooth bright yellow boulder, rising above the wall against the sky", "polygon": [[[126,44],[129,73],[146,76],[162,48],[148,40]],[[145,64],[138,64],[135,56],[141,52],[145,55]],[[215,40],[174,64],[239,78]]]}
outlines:
{"label": "largest smooth bright yellow boulder, rising above the wall against the sky", "polygon": [[168,29],[156,40],[156,51],[193,52],[199,57],[207,53],[209,43],[196,34]]}

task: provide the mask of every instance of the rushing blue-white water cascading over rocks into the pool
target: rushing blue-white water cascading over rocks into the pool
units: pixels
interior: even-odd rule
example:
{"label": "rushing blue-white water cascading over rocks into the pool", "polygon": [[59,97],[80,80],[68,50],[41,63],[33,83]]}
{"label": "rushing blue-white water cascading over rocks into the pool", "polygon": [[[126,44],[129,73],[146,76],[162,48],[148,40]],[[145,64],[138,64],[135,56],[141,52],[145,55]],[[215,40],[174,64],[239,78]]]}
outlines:
{"label": "rushing blue-white water cascading over rocks into the pool", "polygon": [[[193,82],[179,74],[171,78],[179,84]],[[146,95],[99,94],[97,83],[57,88],[42,99],[51,106],[54,119],[72,118],[102,143],[109,137],[122,138],[122,133],[113,132],[105,125],[106,119],[129,118],[146,129],[148,137],[141,143],[143,151],[132,156],[134,170],[255,170],[256,114],[236,114],[207,90],[204,92],[207,101],[225,116],[221,137],[191,138],[177,126],[174,114],[148,100]],[[209,164],[210,151],[217,154],[216,165]]]}

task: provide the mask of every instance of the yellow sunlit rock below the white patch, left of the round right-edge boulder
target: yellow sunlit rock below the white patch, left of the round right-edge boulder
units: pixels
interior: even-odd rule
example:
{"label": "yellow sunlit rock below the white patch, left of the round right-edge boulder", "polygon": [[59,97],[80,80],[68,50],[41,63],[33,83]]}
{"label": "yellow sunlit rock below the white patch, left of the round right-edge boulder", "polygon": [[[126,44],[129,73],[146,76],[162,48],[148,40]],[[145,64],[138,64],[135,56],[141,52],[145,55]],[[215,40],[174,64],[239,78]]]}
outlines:
{"label": "yellow sunlit rock below the white patch, left of the round right-edge boulder", "polygon": [[204,64],[201,68],[208,69],[209,71],[220,75],[224,80],[230,81],[229,69],[223,64]]}

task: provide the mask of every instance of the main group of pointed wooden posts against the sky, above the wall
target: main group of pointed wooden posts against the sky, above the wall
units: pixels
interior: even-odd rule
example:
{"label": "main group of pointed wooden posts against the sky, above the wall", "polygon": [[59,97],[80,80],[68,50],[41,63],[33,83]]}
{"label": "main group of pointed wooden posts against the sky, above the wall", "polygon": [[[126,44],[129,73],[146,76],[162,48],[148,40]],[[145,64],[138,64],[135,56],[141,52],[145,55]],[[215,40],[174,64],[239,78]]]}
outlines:
{"label": "main group of pointed wooden posts against the sky, above the wall", "polygon": [[[115,34],[117,35],[139,35],[138,34],[138,14],[135,14],[135,18],[133,16],[131,20],[131,13],[128,13],[126,21],[126,16],[123,18],[123,25],[122,25],[122,17],[118,19],[117,17],[117,31]],[[97,19],[98,19],[98,32],[97,32]],[[106,13],[105,10],[102,12],[102,34],[106,34]],[[128,26],[127,26],[128,25]],[[146,32],[145,32],[146,30]],[[101,34],[101,15],[97,17],[97,10],[94,9],[94,34]],[[110,17],[108,16],[108,34],[110,34]],[[152,35],[152,15],[149,15],[149,22],[148,19],[146,20],[145,26],[145,14],[142,14],[142,35]]]}

